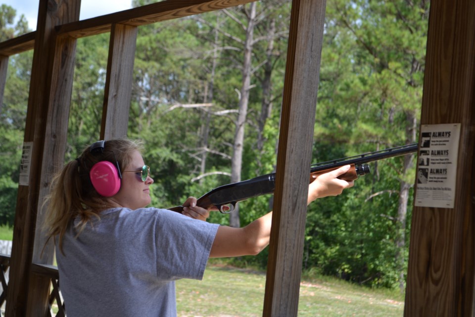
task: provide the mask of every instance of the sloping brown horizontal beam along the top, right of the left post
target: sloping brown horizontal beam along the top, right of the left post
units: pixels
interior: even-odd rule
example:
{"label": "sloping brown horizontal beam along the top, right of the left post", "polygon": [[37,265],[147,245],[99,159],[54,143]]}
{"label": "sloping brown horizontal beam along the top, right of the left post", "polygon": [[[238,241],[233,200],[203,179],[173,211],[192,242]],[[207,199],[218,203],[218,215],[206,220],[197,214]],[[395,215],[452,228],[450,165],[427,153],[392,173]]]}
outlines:
{"label": "sloping brown horizontal beam along the top, right of the left post", "polygon": [[109,32],[113,24],[132,26],[225,9],[255,0],[165,0],[57,27],[58,34],[81,38]]}

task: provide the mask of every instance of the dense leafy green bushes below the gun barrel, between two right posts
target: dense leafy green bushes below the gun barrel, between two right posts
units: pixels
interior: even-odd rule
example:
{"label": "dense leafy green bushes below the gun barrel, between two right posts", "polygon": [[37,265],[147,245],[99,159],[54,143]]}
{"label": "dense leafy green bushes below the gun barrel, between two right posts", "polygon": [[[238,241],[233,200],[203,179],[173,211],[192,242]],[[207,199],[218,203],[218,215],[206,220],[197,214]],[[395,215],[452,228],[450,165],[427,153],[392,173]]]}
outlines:
{"label": "dense leafy green bushes below the gun barrel, between two right posts", "polygon": [[[394,189],[399,186],[397,166],[401,161],[380,161],[378,168],[383,177],[360,177],[351,190],[317,200],[309,207],[305,267],[359,284],[397,286],[394,259],[399,195]],[[405,236],[408,240],[409,229],[405,229]]]}

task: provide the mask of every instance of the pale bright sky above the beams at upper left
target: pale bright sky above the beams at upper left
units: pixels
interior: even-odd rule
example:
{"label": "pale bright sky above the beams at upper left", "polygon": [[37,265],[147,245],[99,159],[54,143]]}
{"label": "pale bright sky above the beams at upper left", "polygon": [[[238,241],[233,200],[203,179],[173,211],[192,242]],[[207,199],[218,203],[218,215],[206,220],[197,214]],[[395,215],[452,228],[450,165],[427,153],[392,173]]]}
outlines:
{"label": "pale bright sky above the beams at upper left", "polygon": [[[30,29],[36,30],[40,0],[0,0],[16,9],[16,16],[24,14]],[[132,0],[81,0],[80,20],[132,8]],[[15,21],[16,22],[16,21]]]}

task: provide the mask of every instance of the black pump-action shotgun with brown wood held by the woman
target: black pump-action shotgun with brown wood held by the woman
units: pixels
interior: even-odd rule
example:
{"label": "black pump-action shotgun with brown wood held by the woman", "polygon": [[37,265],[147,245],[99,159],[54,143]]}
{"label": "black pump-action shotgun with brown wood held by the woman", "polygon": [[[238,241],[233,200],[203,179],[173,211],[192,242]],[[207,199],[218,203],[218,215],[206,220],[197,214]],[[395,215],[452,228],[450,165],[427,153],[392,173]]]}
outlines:
{"label": "black pump-action shotgun with brown wood held by the woman", "polygon": [[[313,164],[310,166],[310,183],[313,182],[318,175],[348,164],[351,165],[350,169],[338,178],[352,181],[357,179],[359,175],[370,173],[369,162],[406,155],[417,152],[417,150],[418,144],[414,143],[354,157],[334,159]],[[196,205],[205,209],[216,206],[222,213],[230,213],[234,211],[238,202],[251,197],[274,193],[275,179],[276,173],[271,173],[241,182],[216,187],[198,198]],[[181,212],[183,211],[183,206],[172,207],[169,208],[169,210]]]}

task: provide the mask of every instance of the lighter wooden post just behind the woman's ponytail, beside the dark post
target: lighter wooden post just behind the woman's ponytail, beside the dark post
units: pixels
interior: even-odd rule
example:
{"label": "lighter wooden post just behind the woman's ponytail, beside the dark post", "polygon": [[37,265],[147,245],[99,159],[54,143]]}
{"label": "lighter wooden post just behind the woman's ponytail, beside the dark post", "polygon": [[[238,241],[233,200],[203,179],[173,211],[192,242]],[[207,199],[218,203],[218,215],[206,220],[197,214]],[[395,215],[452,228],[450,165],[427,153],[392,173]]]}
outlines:
{"label": "lighter wooden post just behind the woman's ponytail, beside the dark post", "polygon": [[[41,185],[34,239],[34,264],[53,264],[54,245],[47,241],[42,230],[44,212],[41,209],[49,192],[53,175],[63,166],[66,151],[69,111],[74,78],[74,61],[77,40],[60,37],[54,41],[52,68],[50,71],[47,123],[41,170]],[[44,206],[46,208],[46,206]],[[47,243],[48,242],[48,243]],[[49,276],[30,274],[27,316],[47,316]]]}

